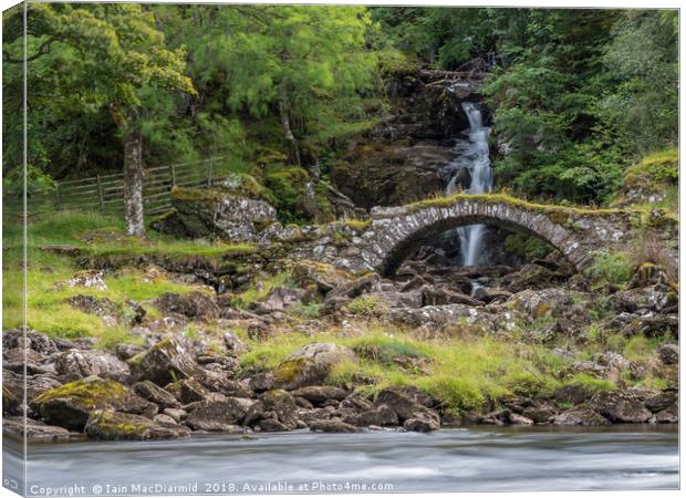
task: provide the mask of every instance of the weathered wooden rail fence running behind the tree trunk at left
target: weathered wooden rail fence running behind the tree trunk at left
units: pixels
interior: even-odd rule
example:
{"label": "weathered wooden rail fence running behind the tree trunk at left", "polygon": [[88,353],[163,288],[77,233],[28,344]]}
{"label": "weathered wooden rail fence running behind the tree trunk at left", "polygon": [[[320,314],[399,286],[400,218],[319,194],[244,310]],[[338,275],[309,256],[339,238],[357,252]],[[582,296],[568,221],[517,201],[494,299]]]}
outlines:
{"label": "weathered wooden rail fence running behind the tree trunk at left", "polygon": [[[211,186],[224,175],[217,169],[222,157],[177,163],[146,168],[143,177],[143,206],[146,215],[155,215],[172,207],[170,193],[175,186]],[[21,212],[21,199],[3,199],[8,215]],[[53,210],[98,210],[124,212],[124,174],[113,173],[86,178],[59,181],[49,191],[28,195],[29,215]]]}

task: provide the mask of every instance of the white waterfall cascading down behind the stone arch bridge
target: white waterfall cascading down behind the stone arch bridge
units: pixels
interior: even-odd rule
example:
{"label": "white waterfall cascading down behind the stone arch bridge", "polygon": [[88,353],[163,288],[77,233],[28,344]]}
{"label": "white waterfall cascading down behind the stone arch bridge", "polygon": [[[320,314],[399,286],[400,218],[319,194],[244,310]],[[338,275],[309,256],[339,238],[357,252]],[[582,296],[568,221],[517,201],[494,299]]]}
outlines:
{"label": "white waterfall cascading down behind the stone arch bridge", "polygon": [[[492,174],[488,151],[488,134],[490,128],[484,126],[481,111],[471,102],[462,102],[462,110],[469,120],[469,142],[461,144],[460,157],[451,165],[450,180],[446,194],[453,194],[456,187],[457,175],[461,168],[467,168],[470,176],[468,194],[490,193]],[[462,266],[470,267],[479,262],[484,248],[484,225],[469,225],[457,229],[460,241]]]}

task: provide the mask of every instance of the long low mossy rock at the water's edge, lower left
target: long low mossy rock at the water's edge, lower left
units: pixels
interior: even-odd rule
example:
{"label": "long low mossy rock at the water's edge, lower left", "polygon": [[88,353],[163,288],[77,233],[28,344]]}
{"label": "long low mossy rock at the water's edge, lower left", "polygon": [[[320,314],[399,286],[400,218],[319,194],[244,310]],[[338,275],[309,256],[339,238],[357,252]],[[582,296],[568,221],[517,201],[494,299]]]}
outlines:
{"label": "long low mossy rock at the water's edge, lower left", "polygon": [[85,425],[90,439],[98,440],[147,440],[173,439],[190,435],[188,427],[150,421],[128,413],[97,409]]}

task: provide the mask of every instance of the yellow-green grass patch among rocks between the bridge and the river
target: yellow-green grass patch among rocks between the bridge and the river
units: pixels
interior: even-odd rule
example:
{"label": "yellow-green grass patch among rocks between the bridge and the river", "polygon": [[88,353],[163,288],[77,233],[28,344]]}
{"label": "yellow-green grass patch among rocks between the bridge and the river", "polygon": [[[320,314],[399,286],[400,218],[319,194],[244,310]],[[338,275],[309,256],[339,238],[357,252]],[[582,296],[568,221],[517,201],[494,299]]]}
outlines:
{"label": "yellow-green grass patch among rocks between the bridge and the river", "polygon": [[[560,380],[561,360],[542,346],[490,336],[419,340],[410,332],[371,325],[353,336],[343,330],[315,335],[288,333],[264,342],[251,342],[241,357],[246,372],[276,369],[288,355],[311,342],[334,342],[356,352],[357,362],[337,364],[328,382],[345,385],[358,378],[373,380],[358,386],[373,394],[389,385],[414,385],[436,397],[444,409],[484,409],[490,402],[513,394],[547,395],[570,383],[589,383],[593,388],[611,388],[609,381],[575,376]],[[532,349],[534,353],[532,354]],[[406,371],[395,356],[430,359],[428,373]]]}

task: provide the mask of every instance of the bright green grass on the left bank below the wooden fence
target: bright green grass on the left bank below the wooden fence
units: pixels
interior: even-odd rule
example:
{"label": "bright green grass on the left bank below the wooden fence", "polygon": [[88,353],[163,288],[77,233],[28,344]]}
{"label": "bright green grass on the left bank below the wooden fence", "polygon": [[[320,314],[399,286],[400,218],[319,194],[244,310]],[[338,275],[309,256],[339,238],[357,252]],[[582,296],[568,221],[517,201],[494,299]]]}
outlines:
{"label": "bright green grass on the left bank below the wooden fence", "polygon": [[[187,293],[196,290],[193,286],[175,283],[163,276],[146,278],[145,272],[137,269],[125,269],[105,277],[107,289],[56,288],[55,282],[71,278],[80,268],[67,257],[43,250],[44,245],[73,245],[91,255],[145,255],[150,252],[168,257],[193,255],[219,256],[235,252],[248,252],[249,247],[200,246],[187,241],[175,241],[155,237],[148,245],[131,242],[116,246],[111,241],[87,245],[82,235],[97,230],[104,239],[108,235],[121,237],[123,222],[117,218],[94,212],[61,211],[29,225],[29,247],[27,266],[27,305],[28,325],[40,332],[61,338],[93,336],[102,346],[114,346],[122,342],[137,342],[131,335],[131,328],[125,324],[106,325],[96,315],[73,309],[65,302],[76,294],[89,294],[95,298],[108,298],[121,308],[133,299],[143,302],[157,298],[165,292]],[[23,274],[21,271],[21,226],[4,224],[3,226],[3,293],[2,326],[11,329],[22,324],[23,320]],[[126,241],[126,239],[124,239]],[[149,314],[155,315],[156,309],[144,304]]]}

